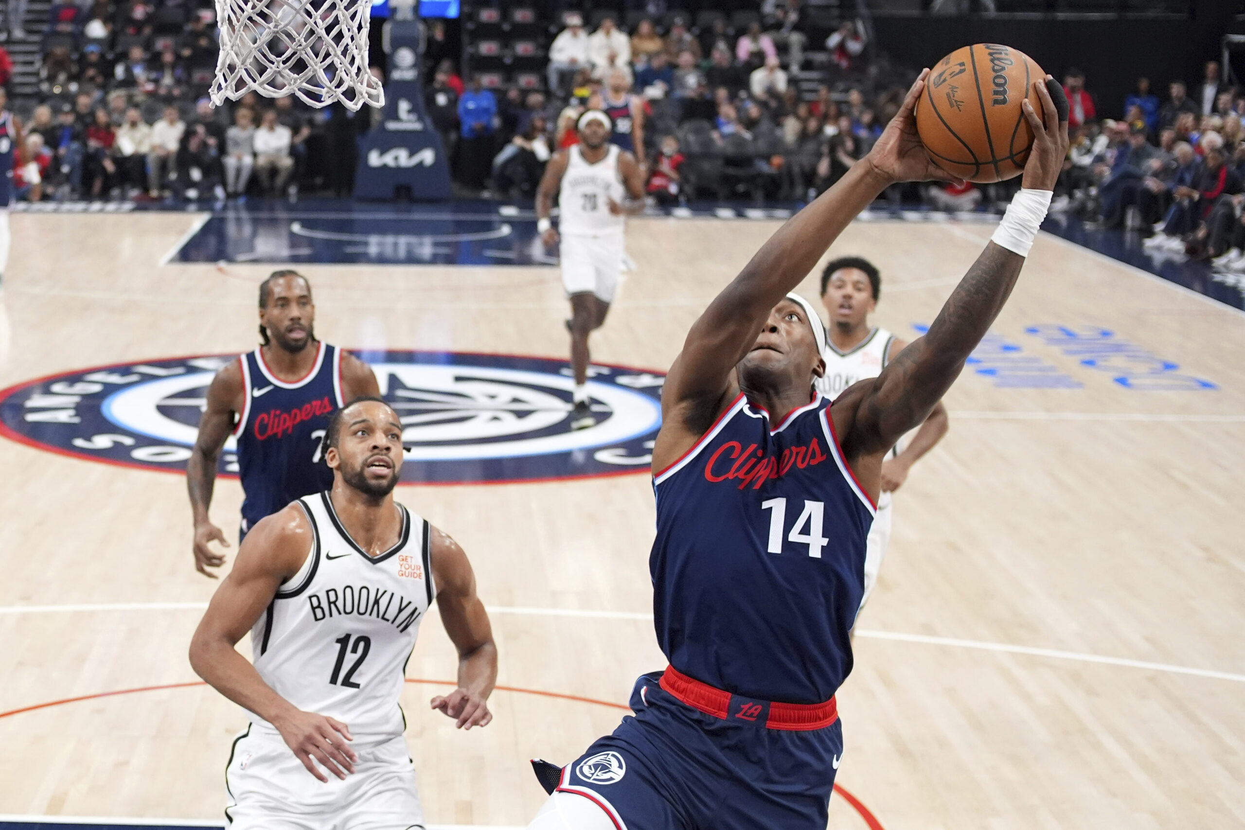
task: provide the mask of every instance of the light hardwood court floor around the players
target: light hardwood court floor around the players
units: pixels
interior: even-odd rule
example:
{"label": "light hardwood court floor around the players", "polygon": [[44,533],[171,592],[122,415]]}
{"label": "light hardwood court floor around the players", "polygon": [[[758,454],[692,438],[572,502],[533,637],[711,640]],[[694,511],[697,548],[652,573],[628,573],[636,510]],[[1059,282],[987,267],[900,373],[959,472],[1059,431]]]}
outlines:
{"label": "light hardwood court floor around the players", "polygon": [[[187,214],[12,217],[0,386],[129,360],[251,348],[266,266],[158,266]],[[697,312],[777,226],[646,219],[594,356],[669,366]],[[930,322],[990,229],[860,223],[832,250],[884,274],[878,322]],[[342,345],[560,356],[554,269],[305,268],[317,332]],[[803,285],[813,296],[814,279]],[[1114,332],[1103,366],[1033,326]],[[839,694],[838,780],[895,828],[1238,828],[1245,823],[1245,316],[1043,236],[982,351],[947,396],[951,432],[896,495],[891,548]],[[1051,341],[1051,342],[1048,342]],[[1079,342],[1079,341],[1078,341]],[[1147,353],[1149,356],[1147,356]],[[1140,391],[1179,363],[1215,389]],[[1112,371],[1103,371],[1112,368]],[[1035,377],[1078,388],[1031,388]],[[186,646],[215,582],[189,555],[177,477],[0,441],[0,711],[195,679]],[[494,612],[500,683],[625,702],[659,668],[645,475],[403,488],[466,548]],[[232,535],[240,492],[220,482]],[[108,611],[10,606],[192,604]],[[889,636],[884,636],[889,635]],[[1225,673],[991,651],[1005,643]],[[439,621],[408,676],[451,678]],[[543,799],[527,759],[566,762],[616,724],[599,704],[497,692],[458,733],[411,684],[407,737],[435,824],[522,825]],[[0,719],[0,814],[220,816],[244,720],[203,687]],[[863,828],[843,799],[832,826]]]}

